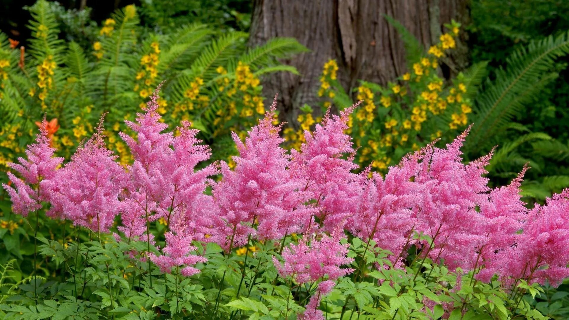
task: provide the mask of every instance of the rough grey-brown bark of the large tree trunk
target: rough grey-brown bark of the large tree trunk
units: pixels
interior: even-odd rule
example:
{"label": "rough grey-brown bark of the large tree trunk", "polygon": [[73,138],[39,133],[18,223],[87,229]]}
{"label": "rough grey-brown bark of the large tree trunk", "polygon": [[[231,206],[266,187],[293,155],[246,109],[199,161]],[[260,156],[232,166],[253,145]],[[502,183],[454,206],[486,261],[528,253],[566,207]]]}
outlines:
{"label": "rough grey-brown bark of the large tree trunk", "polygon": [[[275,36],[299,40],[311,52],[285,63],[302,76],[272,75],[263,85],[267,96],[279,93],[283,119],[294,123],[305,103],[315,105],[319,76],[328,59],[339,64],[338,78],[345,89],[357,80],[386,84],[406,72],[405,49],[384,15],[401,22],[423,46],[435,43],[443,24],[468,19],[468,0],[254,0],[250,44]],[[461,52],[462,51],[462,52]],[[464,57],[460,46],[456,57]],[[464,58],[463,58],[464,59]],[[448,59],[443,73],[461,69],[465,60]]]}

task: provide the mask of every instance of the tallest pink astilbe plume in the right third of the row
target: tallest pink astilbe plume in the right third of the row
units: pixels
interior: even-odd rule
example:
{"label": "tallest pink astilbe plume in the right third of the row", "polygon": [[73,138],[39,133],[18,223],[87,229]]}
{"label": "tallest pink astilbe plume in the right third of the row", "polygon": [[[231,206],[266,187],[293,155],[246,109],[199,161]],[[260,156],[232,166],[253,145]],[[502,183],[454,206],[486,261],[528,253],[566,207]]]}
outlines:
{"label": "tallest pink astilbe plume in the right third of the row", "polygon": [[476,244],[485,239],[476,208],[488,200],[488,178],[483,175],[490,155],[461,163],[460,147],[467,134],[468,129],[446,149],[430,145],[409,158],[410,165],[417,167],[414,182],[424,187],[415,230],[434,239],[434,248],[425,252],[435,261],[444,259],[450,269],[471,269]]}

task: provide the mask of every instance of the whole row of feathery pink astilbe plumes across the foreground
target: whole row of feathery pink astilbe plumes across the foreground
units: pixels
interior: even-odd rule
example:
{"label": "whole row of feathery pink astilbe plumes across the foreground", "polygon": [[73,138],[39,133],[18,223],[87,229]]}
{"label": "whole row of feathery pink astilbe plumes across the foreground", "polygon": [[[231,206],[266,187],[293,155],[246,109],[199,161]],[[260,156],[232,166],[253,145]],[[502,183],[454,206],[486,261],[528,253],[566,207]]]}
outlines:
{"label": "whole row of feathery pink astilbe plumes across the foreground", "polygon": [[[382,290],[387,290],[385,286],[399,290],[391,297],[404,297],[407,290],[413,290],[397,283],[405,279],[405,273],[415,281],[423,274],[422,267],[430,264],[422,278],[437,274],[429,260],[459,275],[470,272],[472,281],[490,282],[497,277],[513,295],[522,280],[558,285],[569,276],[569,191],[528,210],[519,196],[526,168],[508,186],[488,187],[484,168],[491,154],[462,162],[460,148],[468,130],[446,148],[431,143],[406,155],[385,176],[370,168],[356,174],[355,150],[345,134],[348,115],[356,106],[339,116],[327,114],[314,132],[304,133],[306,142],[300,151],[288,154],[281,147],[281,125],[273,124],[274,102],[245,141],[233,136],[239,155],[233,158],[236,166],[231,169],[225,162],[202,164],[211,151],[196,138],[197,130],[189,122],[166,132],[168,126],[156,112],[157,100],[158,91],[136,122],[127,122],[135,137],[121,134],[134,158],[126,167],[106,149],[99,127],[71,161],[57,169],[63,159],[53,158],[46,130],[40,128],[37,143],[28,146],[28,159],[12,165],[24,179],[10,174],[15,188],[4,186],[14,211],[27,215],[48,202],[48,213],[54,219],[69,219],[97,233],[119,232],[116,237],[123,243],[144,243],[146,249],[131,251],[129,261],[147,262],[150,274],[152,262],[163,273],[175,272],[176,294],[179,274],[193,276],[203,270],[200,263],[213,263],[200,249],[204,244],[219,245],[223,255],[246,245],[241,266],[226,269],[241,269],[235,301],[240,301],[244,284],[250,287],[244,290],[243,299],[248,299],[262,273],[259,266],[265,264],[258,259],[254,277],[245,280],[249,244],[256,241],[269,248],[265,261],[273,255],[288,296],[293,287],[298,288],[294,295],[298,297],[300,285],[316,285],[314,292],[306,290],[310,301],[299,315],[304,319],[323,318],[320,302],[333,290],[344,288],[345,282],[335,286],[336,281],[351,275],[353,282],[364,284],[374,274],[368,268],[380,272],[381,276],[375,275]],[[118,216],[120,224],[115,228]],[[166,225],[163,234],[151,232],[157,220]],[[363,254],[349,256],[356,237],[365,249]],[[164,239],[163,247],[158,245],[160,239]],[[384,260],[380,248],[387,252]],[[415,261],[420,261],[418,269],[414,269]],[[219,310],[227,270],[217,284],[217,300],[209,317]],[[387,277],[385,272],[404,273]],[[452,294],[461,285],[459,276]],[[109,276],[109,293],[111,287]],[[290,310],[288,296],[286,311],[279,315],[285,318]],[[434,312],[432,303],[423,303],[428,299],[418,299],[419,309]],[[467,300],[468,295],[464,304]],[[448,312],[456,307],[448,301],[442,304]],[[342,314],[345,309],[346,305]],[[397,310],[390,310],[390,317]],[[236,314],[232,312],[231,317]]]}

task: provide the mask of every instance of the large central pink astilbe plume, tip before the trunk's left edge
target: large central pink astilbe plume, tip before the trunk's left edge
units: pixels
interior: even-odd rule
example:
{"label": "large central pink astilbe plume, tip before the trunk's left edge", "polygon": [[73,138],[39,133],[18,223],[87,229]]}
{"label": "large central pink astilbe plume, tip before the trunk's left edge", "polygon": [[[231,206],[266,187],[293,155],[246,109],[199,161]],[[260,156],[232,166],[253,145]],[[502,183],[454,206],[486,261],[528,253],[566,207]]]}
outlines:
{"label": "large central pink astilbe plume, tip before the trunk's left edge", "polygon": [[250,233],[261,240],[281,239],[300,231],[310,218],[311,211],[303,204],[307,195],[299,191],[306,180],[287,169],[290,156],[280,146],[282,125],[272,124],[276,104],[275,97],[245,142],[233,133],[239,151],[233,157],[235,169],[221,163],[223,178],[213,188],[213,196],[221,210],[216,241],[225,250],[244,245]]}

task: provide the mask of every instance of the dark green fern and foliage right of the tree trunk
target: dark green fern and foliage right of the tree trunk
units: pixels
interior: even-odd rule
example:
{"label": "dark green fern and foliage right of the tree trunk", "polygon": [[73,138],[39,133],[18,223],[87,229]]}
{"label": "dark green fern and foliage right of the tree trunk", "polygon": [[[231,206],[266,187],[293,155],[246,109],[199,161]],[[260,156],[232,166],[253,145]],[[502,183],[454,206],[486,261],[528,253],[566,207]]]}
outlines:
{"label": "dark green fern and foliage right of the tree trunk", "polygon": [[[500,171],[491,172],[492,181],[506,183],[529,162],[532,169],[522,188],[526,200],[539,203],[552,191],[569,187],[564,178],[569,162],[563,156],[569,139],[567,9],[568,3],[559,0],[476,0],[467,27],[472,60],[489,61],[492,79],[475,101],[483,111],[478,118],[482,125],[480,132],[473,128],[476,141],[467,143],[467,154],[479,157],[498,142],[517,145],[508,161],[502,158]],[[520,136],[539,132],[551,139],[519,143]]]}

